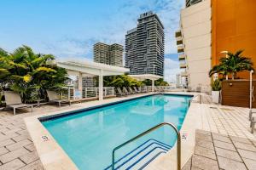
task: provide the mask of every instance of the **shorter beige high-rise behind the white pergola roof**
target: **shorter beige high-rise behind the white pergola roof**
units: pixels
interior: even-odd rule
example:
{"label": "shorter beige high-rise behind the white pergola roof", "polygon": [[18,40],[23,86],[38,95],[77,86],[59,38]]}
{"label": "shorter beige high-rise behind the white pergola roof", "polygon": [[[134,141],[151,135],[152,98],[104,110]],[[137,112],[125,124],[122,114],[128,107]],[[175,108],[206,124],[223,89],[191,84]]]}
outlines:
{"label": "shorter beige high-rise behind the white pergola roof", "polygon": [[123,66],[123,51],[123,46],[118,43],[97,42],[93,46],[93,59],[96,63]]}

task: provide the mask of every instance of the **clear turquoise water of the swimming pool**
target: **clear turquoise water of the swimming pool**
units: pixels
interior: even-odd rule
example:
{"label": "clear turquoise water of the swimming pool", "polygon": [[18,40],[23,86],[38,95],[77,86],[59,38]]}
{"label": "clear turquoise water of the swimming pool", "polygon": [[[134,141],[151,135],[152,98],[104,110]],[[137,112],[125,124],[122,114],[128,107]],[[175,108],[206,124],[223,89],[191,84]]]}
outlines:
{"label": "clear turquoise water of the swimming pool", "polygon": [[[152,95],[42,123],[79,169],[102,170],[111,165],[114,147],[148,128],[160,122],[172,122],[180,129],[190,98]],[[172,146],[176,135],[171,127],[160,127],[118,150],[116,160],[148,139],[156,139]]]}

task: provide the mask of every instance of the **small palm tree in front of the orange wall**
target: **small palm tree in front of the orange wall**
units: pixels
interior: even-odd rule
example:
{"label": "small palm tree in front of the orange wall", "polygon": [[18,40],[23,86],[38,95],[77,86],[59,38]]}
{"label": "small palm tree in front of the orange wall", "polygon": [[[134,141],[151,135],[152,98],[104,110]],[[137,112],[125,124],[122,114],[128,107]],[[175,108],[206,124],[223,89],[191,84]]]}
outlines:
{"label": "small palm tree in front of the orange wall", "polygon": [[219,73],[228,79],[228,74],[231,74],[234,80],[237,72],[254,70],[252,60],[241,56],[242,52],[242,50],[238,50],[235,54],[229,52],[227,57],[219,59],[219,64],[214,65],[209,71],[209,76],[212,77],[214,73]]}

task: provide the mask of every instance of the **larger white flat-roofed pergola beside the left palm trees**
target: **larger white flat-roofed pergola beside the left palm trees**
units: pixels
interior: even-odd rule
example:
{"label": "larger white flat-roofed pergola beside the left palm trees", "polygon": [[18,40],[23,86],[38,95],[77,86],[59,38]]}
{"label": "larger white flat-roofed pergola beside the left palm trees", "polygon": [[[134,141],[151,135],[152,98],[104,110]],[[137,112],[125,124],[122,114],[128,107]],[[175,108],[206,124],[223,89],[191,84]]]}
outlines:
{"label": "larger white flat-roofed pergola beside the left palm trees", "polygon": [[99,100],[103,99],[103,77],[123,75],[125,72],[130,71],[124,67],[104,65],[95,63],[89,60],[68,60],[57,61],[57,65],[65,68],[68,75],[79,77],[79,91],[82,91],[82,78],[83,77],[99,77]]}

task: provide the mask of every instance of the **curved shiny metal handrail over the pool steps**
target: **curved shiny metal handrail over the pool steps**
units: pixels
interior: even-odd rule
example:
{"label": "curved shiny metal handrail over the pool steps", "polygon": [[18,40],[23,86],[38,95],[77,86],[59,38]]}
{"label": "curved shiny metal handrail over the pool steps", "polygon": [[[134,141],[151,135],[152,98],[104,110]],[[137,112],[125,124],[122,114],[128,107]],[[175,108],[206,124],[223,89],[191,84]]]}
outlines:
{"label": "curved shiny metal handrail over the pool steps", "polygon": [[162,122],[154,127],[149,128],[147,131],[140,133],[139,135],[137,135],[136,137],[126,141],[123,144],[120,144],[119,146],[115,147],[112,151],[112,170],[114,170],[114,153],[116,150],[119,150],[120,148],[122,148],[123,146],[125,146],[126,144],[130,144],[132,141],[139,139],[141,137],[143,137],[144,135],[154,131],[155,129],[168,125],[170,127],[172,127],[175,130],[175,133],[177,134],[177,170],[181,169],[181,139],[180,139],[180,133],[177,130],[177,127],[175,125],[173,125],[171,122]]}

